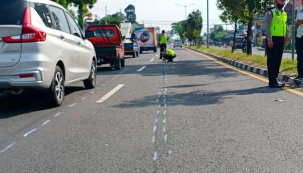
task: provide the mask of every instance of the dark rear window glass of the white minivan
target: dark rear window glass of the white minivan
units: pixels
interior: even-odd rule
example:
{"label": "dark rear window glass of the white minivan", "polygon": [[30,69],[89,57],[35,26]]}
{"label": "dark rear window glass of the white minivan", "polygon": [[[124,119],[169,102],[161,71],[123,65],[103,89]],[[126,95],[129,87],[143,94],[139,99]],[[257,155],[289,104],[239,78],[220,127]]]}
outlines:
{"label": "dark rear window glass of the white minivan", "polygon": [[0,1],[0,25],[22,25],[27,1]]}

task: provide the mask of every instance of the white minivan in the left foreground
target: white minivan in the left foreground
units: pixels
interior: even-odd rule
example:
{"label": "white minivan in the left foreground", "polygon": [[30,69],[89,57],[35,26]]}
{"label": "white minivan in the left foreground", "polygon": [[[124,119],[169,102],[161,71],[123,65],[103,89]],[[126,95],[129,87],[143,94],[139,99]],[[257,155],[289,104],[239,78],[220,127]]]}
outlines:
{"label": "white minivan in the left foreground", "polygon": [[0,92],[44,90],[52,106],[64,86],[96,85],[96,53],[73,17],[48,0],[0,1]]}

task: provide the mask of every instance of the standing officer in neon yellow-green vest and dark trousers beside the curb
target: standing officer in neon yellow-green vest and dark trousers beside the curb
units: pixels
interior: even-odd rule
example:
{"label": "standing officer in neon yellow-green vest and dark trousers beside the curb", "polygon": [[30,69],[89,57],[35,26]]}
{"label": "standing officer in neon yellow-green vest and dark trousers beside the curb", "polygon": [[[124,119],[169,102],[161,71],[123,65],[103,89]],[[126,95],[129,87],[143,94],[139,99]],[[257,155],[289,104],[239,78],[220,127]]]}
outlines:
{"label": "standing officer in neon yellow-green vest and dark trousers beside the curb", "polygon": [[287,43],[287,14],[283,8],[286,0],[274,0],[274,7],[265,13],[265,34],[267,51],[268,86],[281,88],[285,86],[277,80],[282,61],[284,45]]}

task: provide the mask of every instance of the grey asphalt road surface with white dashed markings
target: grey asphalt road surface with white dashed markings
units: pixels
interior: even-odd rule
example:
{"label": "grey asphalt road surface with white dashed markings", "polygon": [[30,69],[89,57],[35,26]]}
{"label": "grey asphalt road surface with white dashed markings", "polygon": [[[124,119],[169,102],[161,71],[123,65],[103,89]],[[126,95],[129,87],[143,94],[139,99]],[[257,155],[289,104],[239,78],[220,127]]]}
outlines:
{"label": "grey asphalt road surface with white dashed markings", "polygon": [[57,108],[0,94],[0,172],[303,172],[302,96],[175,51],[101,66]]}

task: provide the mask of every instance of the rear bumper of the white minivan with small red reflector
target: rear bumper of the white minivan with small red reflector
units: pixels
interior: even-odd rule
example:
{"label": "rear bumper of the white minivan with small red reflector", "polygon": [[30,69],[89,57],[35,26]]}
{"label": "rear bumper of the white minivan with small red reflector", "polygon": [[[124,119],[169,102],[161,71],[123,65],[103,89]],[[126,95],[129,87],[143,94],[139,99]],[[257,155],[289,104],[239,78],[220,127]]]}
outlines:
{"label": "rear bumper of the white minivan with small red reflector", "polygon": [[13,67],[0,68],[0,89],[50,87],[54,75],[54,62],[45,61],[39,54],[27,58],[21,57],[21,60],[29,61],[20,61]]}

